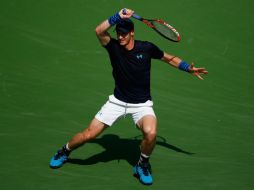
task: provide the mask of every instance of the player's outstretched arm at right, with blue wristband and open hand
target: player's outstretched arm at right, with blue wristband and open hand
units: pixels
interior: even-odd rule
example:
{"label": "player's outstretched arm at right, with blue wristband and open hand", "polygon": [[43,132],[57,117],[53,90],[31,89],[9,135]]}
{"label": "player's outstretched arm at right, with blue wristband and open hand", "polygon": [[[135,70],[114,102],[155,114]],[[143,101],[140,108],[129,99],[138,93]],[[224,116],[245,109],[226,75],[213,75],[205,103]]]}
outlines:
{"label": "player's outstretched arm at right, with blue wristband and open hand", "polygon": [[191,73],[193,76],[198,77],[200,80],[204,80],[201,75],[208,74],[208,71],[205,68],[194,67],[194,63],[188,64],[179,57],[170,55],[165,52],[161,60],[175,68]]}

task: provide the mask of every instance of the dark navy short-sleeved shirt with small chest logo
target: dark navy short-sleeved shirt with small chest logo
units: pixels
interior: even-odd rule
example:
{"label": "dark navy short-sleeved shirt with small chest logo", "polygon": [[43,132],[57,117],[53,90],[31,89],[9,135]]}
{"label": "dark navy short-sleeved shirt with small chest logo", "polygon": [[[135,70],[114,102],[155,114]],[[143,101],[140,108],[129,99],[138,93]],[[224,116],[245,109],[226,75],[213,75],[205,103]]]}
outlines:
{"label": "dark navy short-sleeved shirt with small chest logo", "polygon": [[144,103],[151,100],[151,59],[161,59],[163,51],[153,43],[139,40],[135,40],[132,50],[126,50],[113,38],[104,47],[113,68],[114,96],[126,103]]}

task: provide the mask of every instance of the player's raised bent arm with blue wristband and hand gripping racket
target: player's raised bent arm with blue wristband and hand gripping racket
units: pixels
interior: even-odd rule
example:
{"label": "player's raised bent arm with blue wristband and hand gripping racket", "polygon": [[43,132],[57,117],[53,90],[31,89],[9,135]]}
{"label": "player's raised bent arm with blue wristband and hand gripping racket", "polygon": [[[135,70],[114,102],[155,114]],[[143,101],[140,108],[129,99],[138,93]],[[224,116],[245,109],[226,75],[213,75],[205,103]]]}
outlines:
{"label": "player's raised bent arm with blue wristband and hand gripping racket", "polygon": [[[123,11],[125,10],[125,11]],[[122,19],[130,18],[134,11],[130,9],[121,9],[118,13],[115,15],[109,17],[107,20],[103,21],[101,24],[99,24],[96,29],[96,36],[98,37],[100,43],[103,46],[106,46],[110,41],[110,34],[108,33],[108,30],[111,26],[119,23]]]}

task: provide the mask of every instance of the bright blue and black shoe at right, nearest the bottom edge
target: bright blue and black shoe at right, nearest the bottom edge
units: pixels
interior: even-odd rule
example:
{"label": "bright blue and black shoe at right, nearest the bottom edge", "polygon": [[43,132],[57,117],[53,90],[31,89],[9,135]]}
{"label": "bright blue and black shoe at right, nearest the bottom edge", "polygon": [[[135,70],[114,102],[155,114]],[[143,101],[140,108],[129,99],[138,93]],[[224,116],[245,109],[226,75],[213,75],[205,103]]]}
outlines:
{"label": "bright blue and black shoe at right, nearest the bottom edge", "polygon": [[133,168],[134,176],[144,185],[152,185],[151,165],[149,163],[137,164]]}

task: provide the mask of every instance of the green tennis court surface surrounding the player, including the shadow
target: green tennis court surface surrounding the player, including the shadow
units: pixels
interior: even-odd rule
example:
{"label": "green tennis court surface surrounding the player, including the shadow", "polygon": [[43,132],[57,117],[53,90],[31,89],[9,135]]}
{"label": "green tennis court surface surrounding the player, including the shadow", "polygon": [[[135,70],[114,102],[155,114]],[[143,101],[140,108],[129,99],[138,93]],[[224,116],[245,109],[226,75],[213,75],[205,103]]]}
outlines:
{"label": "green tennis court surface surrounding the player, including the shadow", "polygon": [[[136,39],[209,71],[199,81],[153,62],[159,137],[151,187],[132,176],[141,137],[129,117],[63,168],[49,168],[112,93],[94,29],[122,7],[162,18],[182,35],[168,42],[135,21]],[[251,0],[1,1],[0,189],[253,189],[253,8]]]}

